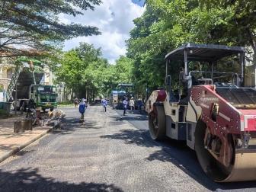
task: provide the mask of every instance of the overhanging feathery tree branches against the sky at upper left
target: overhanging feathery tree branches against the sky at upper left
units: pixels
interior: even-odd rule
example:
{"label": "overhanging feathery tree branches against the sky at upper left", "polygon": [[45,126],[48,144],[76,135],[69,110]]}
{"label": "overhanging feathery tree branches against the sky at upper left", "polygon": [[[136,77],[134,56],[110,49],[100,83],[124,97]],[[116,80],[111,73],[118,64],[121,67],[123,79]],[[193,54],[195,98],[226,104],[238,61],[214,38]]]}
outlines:
{"label": "overhanging feathery tree branches against the sky at upper left", "polygon": [[76,16],[101,0],[1,0],[0,57],[42,55],[60,42],[100,34],[97,27],[63,24],[59,14]]}

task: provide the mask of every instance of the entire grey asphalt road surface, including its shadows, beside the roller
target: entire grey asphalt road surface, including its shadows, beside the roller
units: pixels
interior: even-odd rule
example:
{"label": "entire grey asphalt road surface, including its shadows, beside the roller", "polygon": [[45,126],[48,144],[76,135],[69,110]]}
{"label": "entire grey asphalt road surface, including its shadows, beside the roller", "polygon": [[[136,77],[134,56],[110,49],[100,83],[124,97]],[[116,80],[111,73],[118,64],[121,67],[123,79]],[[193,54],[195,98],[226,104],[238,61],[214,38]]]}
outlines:
{"label": "entire grey asphalt road surface, including its shadows, beside the roller", "polygon": [[65,108],[55,130],[0,164],[0,191],[255,191],[256,182],[216,184],[184,143],[149,136],[146,115],[90,106],[85,123]]}

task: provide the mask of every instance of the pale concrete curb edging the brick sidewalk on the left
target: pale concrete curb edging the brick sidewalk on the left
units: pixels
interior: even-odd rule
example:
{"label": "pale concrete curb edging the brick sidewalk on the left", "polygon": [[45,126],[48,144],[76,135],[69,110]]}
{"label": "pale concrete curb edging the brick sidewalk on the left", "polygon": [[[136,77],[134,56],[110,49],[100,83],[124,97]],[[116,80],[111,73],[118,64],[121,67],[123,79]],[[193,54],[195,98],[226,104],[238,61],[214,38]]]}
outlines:
{"label": "pale concrete curb edging the brick sidewalk on the left", "polygon": [[45,132],[41,133],[40,135],[36,136],[34,139],[31,139],[28,142],[25,142],[23,145],[15,147],[10,152],[6,152],[5,155],[2,155],[0,157],[0,163],[4,162],[5,159],[11,157],[12,155],[16,154],[17,152],[21,151],[21,149],[24,149],[26,146],[29,146],[32,142],[37,141],[37,139],[40,139],[41,137],[43,137],[44,135],[49,133],[51,130],[53,130],[53,127],[51,127],[49,130],[46,130]]}

